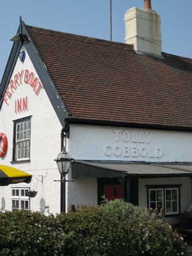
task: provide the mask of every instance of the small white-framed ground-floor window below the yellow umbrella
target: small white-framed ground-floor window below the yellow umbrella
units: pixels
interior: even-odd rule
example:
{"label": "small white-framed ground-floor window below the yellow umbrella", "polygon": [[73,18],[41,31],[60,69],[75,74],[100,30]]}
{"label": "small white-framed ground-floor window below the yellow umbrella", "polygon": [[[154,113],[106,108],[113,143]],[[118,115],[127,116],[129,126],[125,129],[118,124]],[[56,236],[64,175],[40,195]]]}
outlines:
{"label": "small white-framed ground-floor window below the yellow umbrella", "polygon": [[29,210],[29,197],[26,196],[26,188],[11,189],[12,210]]}

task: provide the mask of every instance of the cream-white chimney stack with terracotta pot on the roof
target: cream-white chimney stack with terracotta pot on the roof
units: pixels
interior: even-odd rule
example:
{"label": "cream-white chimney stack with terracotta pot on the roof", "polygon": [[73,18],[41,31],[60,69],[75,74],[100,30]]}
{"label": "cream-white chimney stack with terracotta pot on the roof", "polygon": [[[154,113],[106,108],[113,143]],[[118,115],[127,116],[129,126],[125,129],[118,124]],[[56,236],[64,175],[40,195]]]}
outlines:
{"label": "cream-white chimney stack with terracotta pot on the roof", "polygon": [[150,0],[145,8],[134,7],[125,13],[125,43],[133,44],[136,52],[161,56],[161,20],[151,10]]}

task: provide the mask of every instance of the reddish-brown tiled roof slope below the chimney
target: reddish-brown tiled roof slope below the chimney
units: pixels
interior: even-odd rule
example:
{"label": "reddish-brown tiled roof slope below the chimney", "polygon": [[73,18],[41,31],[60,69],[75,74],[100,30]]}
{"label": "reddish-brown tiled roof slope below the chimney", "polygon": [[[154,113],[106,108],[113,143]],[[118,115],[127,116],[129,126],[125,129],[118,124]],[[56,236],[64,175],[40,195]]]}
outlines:
{"label": "reddish-brown tiled roof slope below the chimney", "polygon": [[192,128],[192,59],[27,26],[70,118]]}

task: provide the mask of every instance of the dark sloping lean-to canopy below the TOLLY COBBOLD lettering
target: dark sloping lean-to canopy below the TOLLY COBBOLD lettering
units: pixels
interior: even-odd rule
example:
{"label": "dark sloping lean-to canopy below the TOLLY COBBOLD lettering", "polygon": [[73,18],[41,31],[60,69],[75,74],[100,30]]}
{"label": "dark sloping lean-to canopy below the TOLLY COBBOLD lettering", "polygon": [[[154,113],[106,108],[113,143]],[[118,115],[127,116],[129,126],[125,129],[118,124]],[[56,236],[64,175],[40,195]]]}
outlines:
{"label": "dark sloping lean-to canopy below the TOLLY COBBOLD lettering", "polygon": [[79,161],[72,163],[72,178],[139,178],[192,176],[192,164],[128,163],[117,161]]}

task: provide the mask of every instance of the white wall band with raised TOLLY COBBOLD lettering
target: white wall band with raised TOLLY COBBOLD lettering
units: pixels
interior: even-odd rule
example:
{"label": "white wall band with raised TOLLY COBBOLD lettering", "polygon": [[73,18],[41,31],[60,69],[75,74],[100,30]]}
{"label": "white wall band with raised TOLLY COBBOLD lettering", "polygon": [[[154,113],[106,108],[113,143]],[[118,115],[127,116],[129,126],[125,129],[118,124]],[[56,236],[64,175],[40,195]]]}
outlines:
{"label": "white wall band with raised TOLLY COBBOLD lettering", "polygon": [[192,161],[187,131],[70,125],[69,154],[76,160]]}

